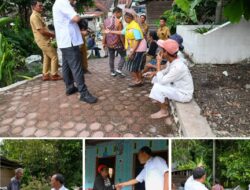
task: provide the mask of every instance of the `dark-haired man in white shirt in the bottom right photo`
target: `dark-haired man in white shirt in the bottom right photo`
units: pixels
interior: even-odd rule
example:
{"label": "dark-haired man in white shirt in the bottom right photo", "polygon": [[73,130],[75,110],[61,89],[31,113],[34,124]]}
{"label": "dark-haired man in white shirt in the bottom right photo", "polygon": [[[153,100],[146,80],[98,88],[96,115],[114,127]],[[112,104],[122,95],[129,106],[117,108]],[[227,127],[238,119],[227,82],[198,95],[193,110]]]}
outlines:
{"label": "dark-haired man in white shirt in the bottom right photo", "polygon": [[197,167],[193,171],[184,186],[184,190],[208,190],[204,185],[206,181],[206,171],[203,167]]}

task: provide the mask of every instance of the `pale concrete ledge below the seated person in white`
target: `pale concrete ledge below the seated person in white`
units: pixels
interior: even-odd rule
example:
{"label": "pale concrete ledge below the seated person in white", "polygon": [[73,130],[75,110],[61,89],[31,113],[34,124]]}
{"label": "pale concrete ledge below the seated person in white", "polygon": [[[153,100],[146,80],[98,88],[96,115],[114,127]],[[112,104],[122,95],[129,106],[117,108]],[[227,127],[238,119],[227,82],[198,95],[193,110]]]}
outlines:
{"label": "pale concrete ledge below the seated person in white", "polygon": [[173,102],[184,137],[215,137],[206,118],[200,115],[200,107],[189,103]]}

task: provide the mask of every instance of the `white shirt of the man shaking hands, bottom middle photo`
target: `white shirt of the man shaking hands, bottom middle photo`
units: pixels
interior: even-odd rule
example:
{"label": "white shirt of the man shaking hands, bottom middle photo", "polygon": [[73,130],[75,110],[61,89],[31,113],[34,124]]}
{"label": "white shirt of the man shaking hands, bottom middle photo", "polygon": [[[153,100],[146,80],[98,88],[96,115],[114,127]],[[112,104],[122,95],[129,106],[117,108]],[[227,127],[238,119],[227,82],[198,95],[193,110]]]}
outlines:
{"label": "white shirt of the man shaking hands, bottom middle photo", "polygon": [[166,172],[168,172],[166,161],[158,156],[152,157],[144,165],[136,180],[140,183],[145,181],[146,190],[163,190]]}

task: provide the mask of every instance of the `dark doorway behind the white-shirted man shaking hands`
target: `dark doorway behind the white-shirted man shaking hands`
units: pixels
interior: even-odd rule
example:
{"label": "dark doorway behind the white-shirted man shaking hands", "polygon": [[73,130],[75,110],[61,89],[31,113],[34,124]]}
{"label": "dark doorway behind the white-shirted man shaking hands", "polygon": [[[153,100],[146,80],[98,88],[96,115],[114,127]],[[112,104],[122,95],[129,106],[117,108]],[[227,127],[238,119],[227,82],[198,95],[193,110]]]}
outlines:
{"label": "dark doorway behind the white-shirted man shaking hands", "polygon": [[[168,164],[168,150],[163,151],[153,151],[153,156],[159,156],[163,158],[166,163]],[[140,164],[137,154],[134,154],[134,168],[133,168],[133,177],[136,178],[136,176],[143,170],[144,165]],[[145,189],[145,182],[143,183],[137,183],[135,185],[134,190],[146,190]]]}

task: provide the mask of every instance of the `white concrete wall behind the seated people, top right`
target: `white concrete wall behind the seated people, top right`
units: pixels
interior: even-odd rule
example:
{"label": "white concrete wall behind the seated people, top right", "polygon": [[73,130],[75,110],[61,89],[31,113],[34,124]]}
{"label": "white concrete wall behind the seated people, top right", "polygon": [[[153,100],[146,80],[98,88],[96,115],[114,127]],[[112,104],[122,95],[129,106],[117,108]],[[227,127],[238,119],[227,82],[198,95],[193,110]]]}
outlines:
{"label": "white concrete wall behind the seated people, top right", "polygon": [[[203,25],[202,25],[203,26]],[[250,22],[227,22],[198,34],[197,25],[179,25],[177,33],[184,39],[184,51],[199,64],[233,64],[250,61]]]}

